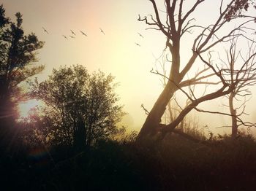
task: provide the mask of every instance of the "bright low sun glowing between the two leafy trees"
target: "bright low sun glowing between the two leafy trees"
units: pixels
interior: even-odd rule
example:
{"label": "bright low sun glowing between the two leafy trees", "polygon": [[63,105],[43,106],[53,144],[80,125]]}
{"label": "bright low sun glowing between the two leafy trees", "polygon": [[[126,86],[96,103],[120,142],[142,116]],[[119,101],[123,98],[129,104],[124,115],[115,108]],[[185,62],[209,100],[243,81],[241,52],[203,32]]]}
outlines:
{"label": "bright low sun glowing between the two leafy trees", "polygon": [[29,101],[24,101],[18,104],[19,118],[28,117],[29,111],[31,111],[31,109],[35,108],[38,105],[39,105],[39,101],[37,101],[36,99],[31,99]]}

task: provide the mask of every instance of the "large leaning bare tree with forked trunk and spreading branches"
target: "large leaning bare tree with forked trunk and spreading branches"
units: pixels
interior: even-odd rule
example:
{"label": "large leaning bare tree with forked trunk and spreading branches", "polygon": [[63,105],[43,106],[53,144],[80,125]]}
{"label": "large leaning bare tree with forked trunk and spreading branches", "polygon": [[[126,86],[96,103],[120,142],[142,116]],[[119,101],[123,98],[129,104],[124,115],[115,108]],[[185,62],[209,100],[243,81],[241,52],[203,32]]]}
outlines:
{"label": "large leaning bare tree with forked trunk and spreading branches", "polygon": [[[153,108],[148,113],[146,121],[143,124],[143,127],[140,130],[138,135],[138,140],[150,136],[157,131],[161,130],[161,117],[165,113],[166,106],[170,101],[170,98],[173,97],[174,93],[177,90],[182,90],[181,87],[190,86],[193,84],[202,83],[202,79],[206,79],[208,76],[196,76],[191,79],[184,79],[186,74],[195,65],[196,58],[198,55],[202,58],[202,54],[213,49],[217,44],[221,42],[230,41],[230,39],[236,38],[238,36],[243,36],[242,34],[236,34],[236,31],[244,30],[246,31],[246,24],[254,22],[254,17],[242,17],[243,10],[247,10],[249,7],[248,1],[239,1],[239,0],[230,0],[228,4],[224,4],[223,1],[219,1],[219,9],[216,11],[219,12],[217,19],[208,26],[197,26],[192,24],[195,20],[191,17],[193,12],[196,12],[200,4],[203,4],[205,0],[194,1],[192,7],[190,7],[187,12],[184,12],[184,7],[187,7],[187,1],[184,0],[165,0],[165,16],[161,17],[159,14],[158,4],[154,0],[151,1],[151,4],[154,8],[154,16],[149,15],[146,17],[140,17],[138,20],[145,22],[149,28],[156,29],[162,32],[166,38],[166,47],[170,52],[170,72],[167,76],[167,84],[162,90],[162,93],[159,95],[159,98],[155,102]],[[162,14],[162,12],[161,12]],[[227,23],[230,24],[233,20],[241,19],[241,24],[235,26],[230,31],[222,31],[222,28],[227,26]],[[181,38],[184,37],[184,34],[191,33],[192,29],[199,31],[197,36],[194,39],[192,47],[191,56],[185,66],[181,69]],[[203,59],[203,58],[202,58]],[[204,60],[203,60],[204,61]],[[162,130],[170,131],[176,128],[176,126],[184,119],[186,114],[188,114],[192,109],[200,104],[203,101],[208,101],[219,96],[226,95],[233,90],[233,85],[228,84],[224,77],[222,77],[222,70],[214,69],[211,66],[211,63],[204,61],[206,65],[211,68],[213,71],[210,76],[216,75],[219,77],[222,82],[222,87],[214,93],[204,95],[200,98],[189,98],[191,103],[185,107],[181,114],[176,117],[176,119],[171,122],[169,125],[166,125]],[[203,74],[206,69],[203,69],[199,74]],[[154,73],[159,74],[158,71]],[[165,75],[163,75],[165,76]]]}

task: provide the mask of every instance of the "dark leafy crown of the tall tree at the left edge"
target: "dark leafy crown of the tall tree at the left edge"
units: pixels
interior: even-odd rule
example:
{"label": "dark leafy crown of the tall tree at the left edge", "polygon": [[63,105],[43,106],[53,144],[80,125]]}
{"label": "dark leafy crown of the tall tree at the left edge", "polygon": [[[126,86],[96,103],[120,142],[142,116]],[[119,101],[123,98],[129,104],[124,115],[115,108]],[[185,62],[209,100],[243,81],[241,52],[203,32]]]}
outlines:
{"label": "dark leafy crown of the tall tree at the left edge", "polygon": [[1,100],[11,95],[20,82],[42,71],[43,66],[26,68],[37,61],[35,50],[43,46],[35,34],[24,35],[22,15],[15,14],[16,23],[5,17],[0,6],[0,79]]}

